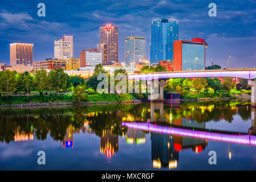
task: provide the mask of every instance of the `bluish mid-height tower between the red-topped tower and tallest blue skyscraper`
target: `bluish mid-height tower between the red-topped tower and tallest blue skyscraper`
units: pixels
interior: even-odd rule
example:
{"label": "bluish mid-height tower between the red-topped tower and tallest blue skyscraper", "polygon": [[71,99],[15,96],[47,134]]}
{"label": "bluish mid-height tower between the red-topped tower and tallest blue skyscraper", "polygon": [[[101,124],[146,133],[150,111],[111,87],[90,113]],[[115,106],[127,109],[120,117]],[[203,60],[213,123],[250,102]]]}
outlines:
{"label": "bluish mid-height tower between the red-topped tower and tallest blue skyscraper", "polygon": [[146,39],[132,36],[125,38],[125,63],[130,65],[132,61],[139,61],[146,57]]}

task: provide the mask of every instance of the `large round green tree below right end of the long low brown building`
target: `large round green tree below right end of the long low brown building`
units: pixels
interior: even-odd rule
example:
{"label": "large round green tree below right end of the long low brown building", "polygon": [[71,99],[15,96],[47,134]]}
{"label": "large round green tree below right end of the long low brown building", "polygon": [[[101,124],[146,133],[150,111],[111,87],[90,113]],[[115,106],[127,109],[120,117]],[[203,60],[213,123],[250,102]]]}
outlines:
{"label": "large round green tree below right end of the long low brown building", "polygon": [[49,73],[49,77],[52,88],[55,90],[56,93],[58,93],[59,96],[59,91],[66,89],[67,74],[64,73],[63,69],[59,68],[51,70]]}

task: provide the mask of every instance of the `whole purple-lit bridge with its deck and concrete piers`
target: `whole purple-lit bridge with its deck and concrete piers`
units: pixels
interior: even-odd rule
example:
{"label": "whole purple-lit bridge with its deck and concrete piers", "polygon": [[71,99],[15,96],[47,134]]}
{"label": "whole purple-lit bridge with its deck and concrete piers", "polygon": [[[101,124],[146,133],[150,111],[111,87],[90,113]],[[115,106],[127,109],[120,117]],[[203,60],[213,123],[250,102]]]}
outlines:
{"label": "whole purple-lit bridge with its deck and concrete piers", "polygon": [[[256,78],[256,69],[217,69],[202,71],[180,71],[180,72],[157,72],[157,73],[138,73],[128,75],[128,80],[148,80],[151,85],[151,100],[164,101],[164,85],[166,81],[159,81],[160,93],[154,92],[155,81],[166,80],[169,78],[203,78],[203,77],[239,77],[249,79],[251,85],[251,106],[256,106],[256,81],[250,79]],[[157,99],[156,99],[157,97]]]}

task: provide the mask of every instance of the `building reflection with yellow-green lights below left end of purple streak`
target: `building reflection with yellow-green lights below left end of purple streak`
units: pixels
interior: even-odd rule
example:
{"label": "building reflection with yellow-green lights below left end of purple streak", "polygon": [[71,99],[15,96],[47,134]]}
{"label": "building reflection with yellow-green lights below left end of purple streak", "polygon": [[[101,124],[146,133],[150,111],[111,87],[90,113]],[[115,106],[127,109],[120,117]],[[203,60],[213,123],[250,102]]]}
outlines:
{"label": "building reflection with yellow-green lights below left end of purple streak", "polygon": [[126,140],[128,144],[143,144],[146,142],[146,134],[141,130],[128,129],[126,134]]}

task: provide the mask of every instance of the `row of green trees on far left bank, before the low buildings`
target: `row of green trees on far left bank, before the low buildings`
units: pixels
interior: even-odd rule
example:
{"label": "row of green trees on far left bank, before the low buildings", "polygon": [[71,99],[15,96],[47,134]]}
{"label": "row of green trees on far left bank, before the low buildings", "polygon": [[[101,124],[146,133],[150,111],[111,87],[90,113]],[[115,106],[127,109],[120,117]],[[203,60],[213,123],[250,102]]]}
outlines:
{"label": "row of green trees on far left bank, before the low buildings", "polygon": [[82,77],[68,76],[63,69],[53,69],[50,72],[40,69],[25,73],[6,70],[0,72],[0,95],[6,93],[8,97],[11,93],[25,92],[29,96],[29,93],[34,90],[40,94],[50,90],[59,95],[61,90],[74,89],[77,85],[84,83]]}

